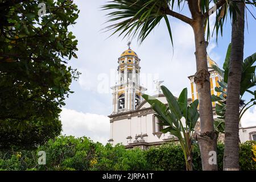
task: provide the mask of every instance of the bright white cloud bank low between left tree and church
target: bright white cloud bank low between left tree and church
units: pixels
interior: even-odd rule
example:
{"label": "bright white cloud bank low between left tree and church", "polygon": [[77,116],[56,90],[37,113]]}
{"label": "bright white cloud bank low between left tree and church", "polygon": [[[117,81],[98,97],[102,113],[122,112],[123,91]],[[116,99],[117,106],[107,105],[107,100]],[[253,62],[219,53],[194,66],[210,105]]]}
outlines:
{"label": "bright white cloud bank low between left tree and church", "polygon": [[110,123],[105,115],[77,112],[63,108],[60,114],[65,135],[89,137],[94,142],[106,144],[109,139]]}

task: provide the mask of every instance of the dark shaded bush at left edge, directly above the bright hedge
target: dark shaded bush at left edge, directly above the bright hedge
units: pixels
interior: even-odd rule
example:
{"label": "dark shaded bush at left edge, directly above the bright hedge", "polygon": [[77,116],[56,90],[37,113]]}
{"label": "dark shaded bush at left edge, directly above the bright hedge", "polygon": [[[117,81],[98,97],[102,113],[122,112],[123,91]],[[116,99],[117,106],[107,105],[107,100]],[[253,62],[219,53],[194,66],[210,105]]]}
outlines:
{"label": "dark shaded bush at left edge, directly above the bright hedge", "polygon": [[[20,122],[23,122],[22,128]],[[1,122],[0,126],[0,148],[5,150],[36,148],[60,135],[61,132],[59,119],[53,119],[49,123],[38,118],[32,118],[30,121],[5,120]]]}

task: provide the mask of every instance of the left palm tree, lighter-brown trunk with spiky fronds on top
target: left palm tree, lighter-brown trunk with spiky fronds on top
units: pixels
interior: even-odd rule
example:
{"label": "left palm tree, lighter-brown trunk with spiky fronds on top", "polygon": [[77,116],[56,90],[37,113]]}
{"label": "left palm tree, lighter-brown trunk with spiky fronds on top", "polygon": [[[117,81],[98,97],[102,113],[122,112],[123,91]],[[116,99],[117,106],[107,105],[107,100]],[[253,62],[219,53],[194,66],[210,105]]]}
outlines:
{"label": "left palm tree, lighter-brown trunk with spiky fronds on top", "polygon": [[[215,5],[209,8],[210,2]],[[228,3],[227,3],[228,2]],[[174,11],[174,6],[180,10],[182,4],[187,5],[191,18]],[[199,142],[203,170],[217,170],[217,164],[209,163],[210,152],[217,150],[217,134],[213,127],[213,112],[210,97],[210,81],[207,66],[207,39],[210,37],[209,16],[216,11],[216,31],[221,30],[228,7],[232,14],[237,9],[236,3],[227,0],[112,0],[102,6],[103,10],[112,10],[108,14],[108,22],[115,22],[106,27],[107,30],[115,30],[113,34],[120,32],[123,36],[138,36],[140,43],[150,34],[155,26],[164,19],[172,42],[171,24],[168,16],[173,16],[184,23],[189,24],[195,36],[196,73],[195,83],[199,94],[199,112],[201,134],[197,135]],[[117,22],[116,22],[117,21]],[[112,35],[113,35],[112,34]]]}

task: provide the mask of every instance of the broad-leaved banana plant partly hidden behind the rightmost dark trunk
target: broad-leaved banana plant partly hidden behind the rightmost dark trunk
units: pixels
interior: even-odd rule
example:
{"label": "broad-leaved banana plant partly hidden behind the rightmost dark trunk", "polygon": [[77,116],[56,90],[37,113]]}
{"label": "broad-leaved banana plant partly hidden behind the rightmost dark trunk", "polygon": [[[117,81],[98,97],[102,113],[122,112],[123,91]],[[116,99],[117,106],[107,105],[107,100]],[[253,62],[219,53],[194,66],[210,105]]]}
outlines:
{"label": "broad-leaved banana plant partly hidden behind the rightmost dark trunk", "polygon": [[[220,86],[216,87],[216,92],[220,93],[220,96],[212,95],[212,102],[216,103],[216,114],[218,115],[217,120],[214,121],[214,127],[216,131],[224,133],[224,119],[226,112],[226,90],[228,89],[228,74],[229,74],[229,60],[230,60],[230,52],[231,52],[232,44],[229,44],[228,51],[226,53],[226,59],[223,65],[223,69],[218,68],[216,65],[213,65],[213,69],[220,73],[224,77],[223,80],[218,81]],[[256,86],[256,76],[255,76],[255,68],[254,63],[256,62],[256,52],[247,57],[242,63],[242,77],[241,77],[241,88],[240,88],[240,112],[239,112],[239,121],[241,122],[241,118],[245,112],[250,109],[250,107],[256,105],[256,90],[254,86]],[[249,93],[253,96],[249,102],[245,102],[242,100],[242,97],[245,93]]]}

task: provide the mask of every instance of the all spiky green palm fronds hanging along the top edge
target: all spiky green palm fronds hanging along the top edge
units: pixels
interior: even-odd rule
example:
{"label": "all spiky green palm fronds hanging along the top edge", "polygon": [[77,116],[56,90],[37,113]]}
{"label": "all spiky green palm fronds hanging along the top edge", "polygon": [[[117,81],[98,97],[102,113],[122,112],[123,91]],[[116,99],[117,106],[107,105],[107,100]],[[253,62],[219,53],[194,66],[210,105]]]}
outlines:
{"label": "all spiky green palm fronds hanging along the top edge", "polygon": [[[172,31],[171,23],[167,15],[174,16],[177,19],[182,20],[185,23],[191,24],[192,19],[182,14],[173,11],[174,7],[177,10],[182,10],[186,0],[112,0],[106,5],[101,6],[102,10],[111,10],[107,14],[107,22],[112,23],[110,26],[105,28],[106,31],[114,31],[112,35],[117,34],[123,36],[123,38],[135,38],[138,36],[138,42],[141,44],[144,39],[154,30],[156,26],[164,19],[167,30],[170,35],[172,42]],[[198,5],[195,5],[198,2]],[[216,41],[218,34],[223,34],[224,24],[227,20],[228,15],[232,21],[237,19],[237,15],[240,14],[237,3],[245,3],[252,7],[256,6],[256,0],[198,0],[190,1],[193,3],[193,11],[205,16],[205,31],[207,32],[207,40],[210,39],[210,23],[209,16],[211,11],[215,11],[216,7],[216,20],[214,24],[213,33],[216,32]],[[209,5],[214,3],[214,7],[210,8]],[[196,6],[196,7],[195,7]],[[197,7],[198,6],[198,7]],[[246,10],[247,9],[246,7]],[[251,11],[249,10],[250,14]],[[253,15],[255,18],[255,16]],[[193,18],[193,17],[192,17]],[[112,36],[110,35],[110,36]]]}

